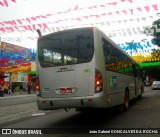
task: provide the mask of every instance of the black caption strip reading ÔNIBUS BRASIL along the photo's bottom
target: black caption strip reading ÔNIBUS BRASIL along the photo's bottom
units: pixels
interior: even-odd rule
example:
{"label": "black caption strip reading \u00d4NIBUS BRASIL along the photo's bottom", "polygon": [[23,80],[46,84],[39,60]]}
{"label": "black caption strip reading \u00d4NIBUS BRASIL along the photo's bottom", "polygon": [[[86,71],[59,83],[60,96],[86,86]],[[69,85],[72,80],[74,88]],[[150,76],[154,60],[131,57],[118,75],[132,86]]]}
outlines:
{"label": "black caption strip reading \u00d4NIBUS BRASIL along the photo's bottom", "polygon": [[2,128],[0,134],[160,134],[159,128]]}

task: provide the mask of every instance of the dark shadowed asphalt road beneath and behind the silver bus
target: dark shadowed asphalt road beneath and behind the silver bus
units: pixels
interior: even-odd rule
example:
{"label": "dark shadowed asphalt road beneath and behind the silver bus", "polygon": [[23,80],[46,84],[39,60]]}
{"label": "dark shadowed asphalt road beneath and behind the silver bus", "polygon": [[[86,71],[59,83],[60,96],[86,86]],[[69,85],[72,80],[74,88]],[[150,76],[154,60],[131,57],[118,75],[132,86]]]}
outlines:
{"label": "dark shadowed asphalt road beneath and behind the silver bus", "polygon": [[[34,116],[21,121],[14,121],[4,128],[72,128],[81,129],[109,129],[109,128],[159,128],[160,129],[160,90],[145,88],[142,99],[131,103],[127,112],[120,112],[117,109],[106,111],[94,111],[89,113],[76,112],[71,109],[69,112],[64,110],[46,113],[43,116]],[[76,136],[133,136],[133,137],[159,137],[160,134],[76,134]],[[4,135],[3,135],[4,136]],[[9,135],[7,135],[9,136]],[[14,135],[16,136],[16,135]],[[19,135],[17,135],[19,136]],[[29,135],[28,135],[29,136]],[[38,135],[32,135],[38,136]],[[41,135],[46,136],[46,135]],[[74,136],[75,134],[59,133],[47,135],[48,137]]]}

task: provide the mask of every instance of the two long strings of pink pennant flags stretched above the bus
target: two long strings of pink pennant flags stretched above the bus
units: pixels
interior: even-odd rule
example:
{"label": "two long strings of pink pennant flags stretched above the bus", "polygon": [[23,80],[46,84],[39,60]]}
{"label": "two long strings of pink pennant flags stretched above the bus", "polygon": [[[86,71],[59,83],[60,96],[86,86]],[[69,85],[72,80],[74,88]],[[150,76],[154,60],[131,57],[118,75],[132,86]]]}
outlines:
{"label": "two long strings of pink pennant flags stretched above the bus", "polygon": [[[106,11],[106,8],[108,8],[109,5],[113,4],[101,4],[101,5],[94,5],[94,6],[90,6],[90,7],[86,7],[86,8],[80,8],[78,5],[75,6],[75,8],[73,10],[71,10],[71,8],[67,11],[61,11],[61,12],[57,12],[54,14],[45,14],[45,15],[38,15],[38,16],[34,16],[34,17],[29,17],[29,18],[23,18],[23,19],[17,19],[17,20],[10,20],[10,21],[3,21],[0,22],[0,32],[2,33],[11,33],[11,32],[15,32],[15,31],[35,31],[37,29],[48,29],[49,26],[57,26],[59,24],[66,24],[68,21],[69,22],[73,22],[71,24],[76,24],[76,22],[78,21],[83,22],[86,20],[92,20],[93,18],[98,18],[98,19],[103,19],[105,17],[108,17],[107,20],[112,19],[112,16],[117,16],[117,15],[123,15],[123,16],[127,16],[127,15],[134,15],[135,13],[139,13],[142,14],[144,13],[144,15],[150,13],[150,12],[158,12],[159,11],[159,5],[158,4],[152,4],[152,5],[148,5],[148,6],[138,6],[136,8],[132,8],[132,9],[122,9],[122,10],[114,10],[112,9],[112,11]],[[84,16],[79,16],[79,13],[82,12],[82,10],[88,10],[87,13],[84,14]],[[102,11],[101,13],[94,13],[95,10],[99,9],[100,11]],[[73,12],[77,14],[73,15],[70,18],[66,18],[67,16],[64,16],[62,14],[66,14],[69,15],[70,12]],[[93,12],[93,13],[92,13]],[[56,18],[55,18],[56,17]],[[57,17],[59,17],[57,19]]]}

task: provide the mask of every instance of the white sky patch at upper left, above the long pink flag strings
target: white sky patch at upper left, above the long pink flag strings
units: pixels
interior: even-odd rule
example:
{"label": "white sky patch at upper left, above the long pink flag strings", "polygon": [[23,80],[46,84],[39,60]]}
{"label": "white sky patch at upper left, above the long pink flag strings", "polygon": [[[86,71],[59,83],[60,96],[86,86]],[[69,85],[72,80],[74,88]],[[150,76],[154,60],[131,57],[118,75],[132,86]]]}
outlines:
{"label": "white sky patch at upper left, above the long pink flag strings", "polygon": [[[75,5],[89,6],[106,0],[8,0],[9,6],[0,6],[0,21],[33,17],[68,10]],[[107,0],[109,2],[110,0]],[[113,1],[113,0],[112,0]],[[4,16],[5,15],[5,16]]]}

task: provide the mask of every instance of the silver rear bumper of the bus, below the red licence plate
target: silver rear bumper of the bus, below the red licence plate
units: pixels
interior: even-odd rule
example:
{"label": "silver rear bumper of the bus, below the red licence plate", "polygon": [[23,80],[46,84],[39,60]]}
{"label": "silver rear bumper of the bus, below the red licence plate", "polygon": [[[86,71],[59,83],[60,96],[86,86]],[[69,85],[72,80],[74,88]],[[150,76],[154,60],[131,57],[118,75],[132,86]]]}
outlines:
{"label": "silver rear bumper of the bus, below the red licence plate", "polygon": [[77,98],[41,98],[37,97],[39,110],[54,110],[61,108],[105,108],[107,98],[104,96],[88,96]]}

